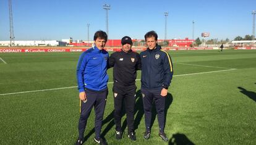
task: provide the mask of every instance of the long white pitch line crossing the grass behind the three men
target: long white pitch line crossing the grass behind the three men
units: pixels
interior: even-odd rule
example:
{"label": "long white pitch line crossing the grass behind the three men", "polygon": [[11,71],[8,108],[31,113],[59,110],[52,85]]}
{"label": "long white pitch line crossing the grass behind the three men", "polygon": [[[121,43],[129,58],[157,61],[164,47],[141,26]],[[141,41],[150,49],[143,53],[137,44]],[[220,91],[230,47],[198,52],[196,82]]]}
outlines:
{"label": "long white pitch line crossing the grass behind the three men", "polygon": [[[173,75],[173,77],[180,77],[180,76],[186,76],[186,75],[198,75],[198,74],[204,74],[204,73],[215,73],[215,72],[225,72],[230,70],[237,70],[237,68],[231,68],[229,70],[216,70],[216,71],[210,71],[210,72],[199,72],[199,73],[187,73],[182,75]],[[136,79],[135,81],[139,81],[140,79]],[[112,84],[114,82],[108,82],[108,84]],[[33,93],[33,92],[40,92],[40,91],[53,91],[58,89],[70,89],[70,88],[77,88],[77,86],[68,86],[68,87],[62,87],[62,88],[52,88],[52,89],[39,89],[35,91],[22,91],[22,92],[15,92],[15,93],[6,93],[6,94],[0,94],[0,96],[6,96],[10,94],[23,94],[23,93]]]}

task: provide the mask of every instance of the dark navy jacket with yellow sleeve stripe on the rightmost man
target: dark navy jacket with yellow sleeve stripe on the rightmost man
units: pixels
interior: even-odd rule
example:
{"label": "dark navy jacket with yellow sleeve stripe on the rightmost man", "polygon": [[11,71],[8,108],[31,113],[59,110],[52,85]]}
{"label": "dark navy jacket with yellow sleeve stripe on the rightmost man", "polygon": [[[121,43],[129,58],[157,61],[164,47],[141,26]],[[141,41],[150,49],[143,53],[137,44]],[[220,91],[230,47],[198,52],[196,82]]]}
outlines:
{"label": "dark navy jacket with yellow sleeve stripe on the rightmost man", "polygon": [[173,78],[173,62],[169,54],[156,45],[153,50],[140,53],[142,61],[142,88],[168,88]]}

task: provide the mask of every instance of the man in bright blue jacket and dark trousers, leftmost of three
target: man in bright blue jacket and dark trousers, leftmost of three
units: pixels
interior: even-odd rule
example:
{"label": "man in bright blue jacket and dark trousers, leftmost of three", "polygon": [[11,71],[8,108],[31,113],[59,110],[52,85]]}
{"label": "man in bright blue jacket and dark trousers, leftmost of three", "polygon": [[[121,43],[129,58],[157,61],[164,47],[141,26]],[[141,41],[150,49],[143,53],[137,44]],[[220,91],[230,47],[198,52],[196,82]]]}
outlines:
{"label": "man in bright blue jacket and dark trousers, leftmost of three", "polygon": [[92,108],[95,108],[95,142],[106,144],[100,138],[101,124],[108,96],[108,52],[105,47],[108,35],[96,31],[95,46],[83,52],[77,64],[77,84],[80,98],[79,138],[75,144],[83,143],[83,133]]}

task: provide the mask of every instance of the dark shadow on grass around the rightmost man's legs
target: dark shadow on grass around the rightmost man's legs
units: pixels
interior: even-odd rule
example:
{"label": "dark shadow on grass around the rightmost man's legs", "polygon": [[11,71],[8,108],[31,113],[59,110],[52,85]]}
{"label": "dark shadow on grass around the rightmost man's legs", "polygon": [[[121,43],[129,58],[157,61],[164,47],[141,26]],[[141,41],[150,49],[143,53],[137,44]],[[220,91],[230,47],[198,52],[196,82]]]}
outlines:
{"label": "dark shadow on grass around the rightmost man's legs", "polygon": [[[166,117],[167,117],[167,111],[169,109],[169,107],[171,106],[171,103],[173,102],[173,95],[168,93],[165,99],[165,104],[164,104],[164,124],[166,121]],[[156,119],[156,107],[155,107],[155,102],[153,102],[153,106],[152,106],[152,118],[151,118],[151,126],[150,128],[153,126],[153,123],[155,122]]]}

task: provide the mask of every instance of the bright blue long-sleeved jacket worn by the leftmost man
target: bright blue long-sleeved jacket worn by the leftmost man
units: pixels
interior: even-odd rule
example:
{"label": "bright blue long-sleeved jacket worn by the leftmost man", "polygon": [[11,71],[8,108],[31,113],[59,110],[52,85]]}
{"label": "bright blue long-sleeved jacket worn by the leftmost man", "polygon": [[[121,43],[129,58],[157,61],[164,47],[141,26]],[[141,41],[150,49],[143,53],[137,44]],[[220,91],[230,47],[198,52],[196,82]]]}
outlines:
{"label": "bright blue long-sleeved jacket worn by the leftmost man", "polygon": [[94,91],[107,89],[108,74],[108,52],[93,47],[83,52],[77,64],[77,85],[79,92],[85,88]]}

